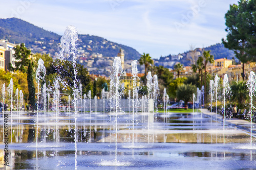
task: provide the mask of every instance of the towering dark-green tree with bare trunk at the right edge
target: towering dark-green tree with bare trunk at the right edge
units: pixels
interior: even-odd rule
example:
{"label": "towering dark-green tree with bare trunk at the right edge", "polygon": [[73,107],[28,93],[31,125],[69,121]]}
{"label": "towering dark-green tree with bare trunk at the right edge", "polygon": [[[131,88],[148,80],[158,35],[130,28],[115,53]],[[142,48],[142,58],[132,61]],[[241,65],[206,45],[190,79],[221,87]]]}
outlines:
{"label": "towering dark-green tree with bare trunk at the right edge", "polygon": [[[226,26],[225,31],[227,39],[222,39],[222,42],[226,48],[233,50],[236,57],[243,64],[244,74],[244,63],[250,59],[246,54],[246,45],[248,43],[247,34],[250,32],[250,25],[248,25],[248,14],[251,12],[248,8],[248,0],[240,0],[239,4],[230,5],[229,10],[225,14]],[[244,81],[244,76],[243,76]]]}

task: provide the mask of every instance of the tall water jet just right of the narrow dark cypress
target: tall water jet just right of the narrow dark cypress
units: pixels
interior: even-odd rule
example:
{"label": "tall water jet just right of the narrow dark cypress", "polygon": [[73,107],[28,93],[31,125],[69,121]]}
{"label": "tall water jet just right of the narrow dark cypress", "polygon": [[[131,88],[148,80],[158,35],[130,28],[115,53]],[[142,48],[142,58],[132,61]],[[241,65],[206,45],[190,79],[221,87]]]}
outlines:
{"label": "tall water jet just right of the narrow dark cypress", "polygon": [[39,114],[39,94],[40,94],[40,81],[44,80],[46,75],[46,67],[42,59],[38,60],[38,67],[36,69],[36,83],[37,83],[37,116],[36,116],[36,156],[37,156],[37,143],[38,143],[38,114]]}

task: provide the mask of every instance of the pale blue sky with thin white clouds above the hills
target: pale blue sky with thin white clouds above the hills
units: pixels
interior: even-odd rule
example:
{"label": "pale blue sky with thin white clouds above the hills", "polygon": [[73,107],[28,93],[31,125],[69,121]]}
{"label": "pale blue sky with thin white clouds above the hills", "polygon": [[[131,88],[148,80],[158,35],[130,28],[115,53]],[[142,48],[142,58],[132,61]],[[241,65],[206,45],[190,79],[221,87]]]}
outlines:
{"label": "pale blue sky with thin white clouds above the hills", "polygon": [[238,0],[9,0],[0,18],[16,17],[63,35],[68,25],[135,48],[152,58],[221,43],[225,13]]}

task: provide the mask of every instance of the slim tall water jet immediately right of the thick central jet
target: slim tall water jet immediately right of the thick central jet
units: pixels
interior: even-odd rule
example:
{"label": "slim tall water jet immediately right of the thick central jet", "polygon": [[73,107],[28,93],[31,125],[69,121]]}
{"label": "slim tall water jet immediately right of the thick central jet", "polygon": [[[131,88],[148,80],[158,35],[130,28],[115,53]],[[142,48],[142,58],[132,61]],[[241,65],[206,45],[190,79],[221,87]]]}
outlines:
{"label": "slim tall water jet immediately right of the thick central jet", "polygon": [[133,148],[134,148],[134,108],[135,108],[135,90],[137,89],[136,79],[138,77],[137,60],[132,62],[132,77],[133,77]]}

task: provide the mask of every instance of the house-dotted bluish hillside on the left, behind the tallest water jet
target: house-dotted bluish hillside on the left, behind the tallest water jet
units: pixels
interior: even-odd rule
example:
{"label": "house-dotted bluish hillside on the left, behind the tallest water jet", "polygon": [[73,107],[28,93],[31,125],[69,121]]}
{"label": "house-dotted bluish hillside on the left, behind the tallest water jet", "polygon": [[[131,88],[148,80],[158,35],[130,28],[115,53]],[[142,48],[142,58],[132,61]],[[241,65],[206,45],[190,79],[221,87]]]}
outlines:
{"label": "house-dotted bluish hillside on the left, behind the tallest water jet", "polygon": [[[0,19],[0,39],[8,39],[13,43],[26,43],[33,53],[50,53],[53,57],[58,54],[58,43],[61,36],[36,27],[18,18]],[[140,54],[132,47],[108,41],[104,38],[90,35],[78,35],[80,56],[85,60],[92,55],[115,57],[119,49],[124,50],[125,59],[138,59]]]}

